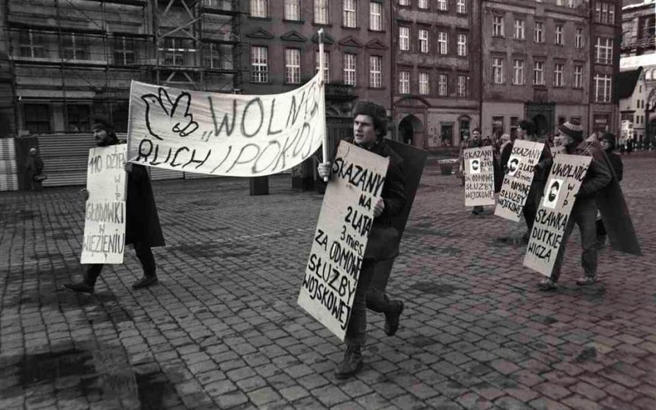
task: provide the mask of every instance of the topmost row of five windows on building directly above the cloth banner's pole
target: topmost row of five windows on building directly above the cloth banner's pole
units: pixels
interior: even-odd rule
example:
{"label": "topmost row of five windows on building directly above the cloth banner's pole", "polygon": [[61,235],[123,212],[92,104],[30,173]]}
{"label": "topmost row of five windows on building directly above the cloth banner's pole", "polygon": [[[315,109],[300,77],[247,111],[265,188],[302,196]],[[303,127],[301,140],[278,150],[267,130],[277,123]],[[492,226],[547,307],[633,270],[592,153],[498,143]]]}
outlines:
{"label": "topmost row of five windows on building directly above the cloth banner's pole", "polygon": [[[280,1],[280,0],[277,0]],[[358,0],[342,0],[342,26],[358,28]],[[284,0],[284,19],[302,21],[301,0]],[[369,29],[383,31],[383,3],[380,0],[369,2]],[[250,17],[268,18],[269,0],[250,0]],[[329,0],[313,0],[313,21],[316,24],[329,24],[331,10]]]}

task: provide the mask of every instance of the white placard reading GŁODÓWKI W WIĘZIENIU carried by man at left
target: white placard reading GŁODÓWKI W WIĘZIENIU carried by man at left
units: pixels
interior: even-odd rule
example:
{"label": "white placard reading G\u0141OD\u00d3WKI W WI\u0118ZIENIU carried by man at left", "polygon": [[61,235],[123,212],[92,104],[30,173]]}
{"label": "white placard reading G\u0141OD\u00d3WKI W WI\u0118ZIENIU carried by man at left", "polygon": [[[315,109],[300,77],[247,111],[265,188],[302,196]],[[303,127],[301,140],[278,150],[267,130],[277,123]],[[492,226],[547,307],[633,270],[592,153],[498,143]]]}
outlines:
{"label": "white placard reading G\u0141OD\u00d3WKI W WI\u0118ZIENIU carried by man at left", "polygon": [[127,145],[89,149],[80,263],[123,263]]}

